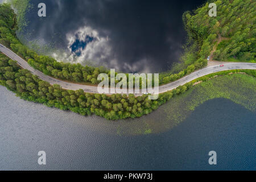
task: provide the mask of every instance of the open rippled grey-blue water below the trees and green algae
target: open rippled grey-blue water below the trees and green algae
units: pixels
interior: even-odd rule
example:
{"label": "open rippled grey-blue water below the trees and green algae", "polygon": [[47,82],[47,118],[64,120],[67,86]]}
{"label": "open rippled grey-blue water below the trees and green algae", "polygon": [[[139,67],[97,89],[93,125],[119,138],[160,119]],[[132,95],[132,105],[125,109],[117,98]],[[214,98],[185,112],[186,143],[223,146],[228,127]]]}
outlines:
{"label": "open rippled grey-blue water below the trees and green algae", "polygon": [[[205,102],[164,133],[120,136],[116,122],[0,92],[0,169],[256,169],[256,114],[229,100]],[[37,163],[41,150],[46,166]],[[217,152],[216,166],[209,151]]]}

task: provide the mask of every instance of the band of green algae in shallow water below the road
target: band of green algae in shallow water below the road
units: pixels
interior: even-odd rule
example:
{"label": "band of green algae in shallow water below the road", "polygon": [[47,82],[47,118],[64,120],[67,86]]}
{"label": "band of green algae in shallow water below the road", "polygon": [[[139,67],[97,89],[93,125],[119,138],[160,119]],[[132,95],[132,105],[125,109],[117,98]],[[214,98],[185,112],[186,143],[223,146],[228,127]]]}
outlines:
{"label": "band of green algae in shallow water below the road", "polygon": [[211,78],[175,96],[158,110],[141,118],[118,121],[121,135],[156,134],[175,127],[204,102],[225,98],[255,112],[256,78],[245,74],[232,74]]}

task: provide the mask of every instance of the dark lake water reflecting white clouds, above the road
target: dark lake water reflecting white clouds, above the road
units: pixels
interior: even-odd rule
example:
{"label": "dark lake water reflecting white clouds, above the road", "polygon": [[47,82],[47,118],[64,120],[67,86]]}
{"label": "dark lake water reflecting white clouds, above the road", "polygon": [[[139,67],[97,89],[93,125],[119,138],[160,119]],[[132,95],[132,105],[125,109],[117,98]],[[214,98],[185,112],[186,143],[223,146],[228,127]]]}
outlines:
{"label": "dark lake water reflecting white clouds, above the road", "polygon": [[[46,4],[39,18],[38,4]],[[57,60],[123,72],[159,72],[179,60],[187,39],[182,15],[205,0],[32,0],[28,40],[54,44]],[[53,55],[52,55],[53,56]],[[89,61],[89,62],[88,62]]]}

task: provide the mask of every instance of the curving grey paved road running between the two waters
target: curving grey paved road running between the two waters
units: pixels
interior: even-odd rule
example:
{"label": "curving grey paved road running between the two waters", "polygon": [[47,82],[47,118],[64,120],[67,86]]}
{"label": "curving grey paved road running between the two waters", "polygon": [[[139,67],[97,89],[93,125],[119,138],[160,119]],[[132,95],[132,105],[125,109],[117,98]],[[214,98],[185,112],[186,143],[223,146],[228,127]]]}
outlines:
{"label": "curving grey paved road running between the two waters", "polygon": [[[56,78],[44,75],[44,73],[38,71],[37,69],[32,68],[27,61],[23,60],[21,57],[16,55],[13,51],[11,51],[9,48],[6,48],[2,44],[0,44],[0,51],[8,56],[10,59],[13,59],[17,61],[17,63],[20,65],[20,67],[24,69],[28,69],[31,71],[32,74],[38,76],[40,79],[49,82],[50,84],[58,84],[64,89],[69,89],[69,90],[78,90],[82,89],[84,92],[89,92],[89,93],[98,93],[97,86],[88,86],[88,85],[81,85],[81,84],[73,84],[70,82],[65,82],[58,80]],[[203,69],[200,69],[196,72],[191,73],[190,75],[184,76],[180,78],[177,81],[171,82],[166,85],[159,86],[159,93],[167,92],[168,90],[172,90],[177,88],[180,85],[184,85],[189,81],[195,80],[196,78],[199,78],[201,76],[208,75],[210,73],[215,73],[215,72],[220,72],[220,71],[226,71],[226,70],[231,70],[231,69],[256,69],[256,63],[228,63],[224,64],[224,67],[220,67],[220,65],[214,65],[210,67],[206,67]],[[109,89],[109,90],[114,90],[116,93],[121,93],[121,89]],[[137,90],[138,91],[138,90]],[[141,92],[142,90],[139,91],[139,93],[135,93],[135,96],[140,96],[143,93]],[[110,92],[109,92],[110,93]],[[110,93],[111,94],[111,93]]]}

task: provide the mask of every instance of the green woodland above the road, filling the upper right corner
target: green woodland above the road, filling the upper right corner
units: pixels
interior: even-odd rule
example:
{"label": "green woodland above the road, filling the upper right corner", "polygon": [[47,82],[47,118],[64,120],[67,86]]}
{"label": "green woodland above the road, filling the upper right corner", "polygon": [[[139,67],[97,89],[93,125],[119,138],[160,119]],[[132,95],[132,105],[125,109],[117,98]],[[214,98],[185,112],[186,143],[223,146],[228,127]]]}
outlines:
{"label": "green woodland above the road, filling the upper right corner", "polygon": [[[209,2],[217,5],[217,16],[210,17]],[[236,59],[255,63],[256,52],[256,1],[219,0],[209,1],[195,11],[183,14],[183,23],[188,34],[185,53],[181,63],[175,66],[178,73],[160,74],[160,82],[174,81],[207,65],[213,47],[221,42],[213,53],[214,60]],[[184,69],[185,68],[185,69]],[[180,69],[183,69],[179,71]]]}

